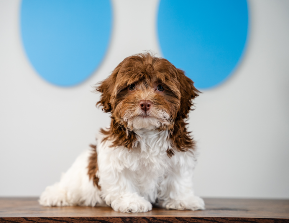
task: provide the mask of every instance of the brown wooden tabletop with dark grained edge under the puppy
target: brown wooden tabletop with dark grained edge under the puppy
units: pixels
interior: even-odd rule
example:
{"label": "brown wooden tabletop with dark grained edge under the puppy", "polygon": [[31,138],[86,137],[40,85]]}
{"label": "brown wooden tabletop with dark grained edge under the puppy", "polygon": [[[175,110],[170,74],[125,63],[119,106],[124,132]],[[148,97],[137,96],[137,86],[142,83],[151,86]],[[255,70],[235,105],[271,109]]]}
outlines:
{"label": "brown wooden tabletop with dark grained edge under the puppy", "polygon": [[203,211],[154,207],[146,213],[120,213],[111,207],[42,207],[37,198],[0,198],[0,222],[289,222],[289,200],[204,200]]}

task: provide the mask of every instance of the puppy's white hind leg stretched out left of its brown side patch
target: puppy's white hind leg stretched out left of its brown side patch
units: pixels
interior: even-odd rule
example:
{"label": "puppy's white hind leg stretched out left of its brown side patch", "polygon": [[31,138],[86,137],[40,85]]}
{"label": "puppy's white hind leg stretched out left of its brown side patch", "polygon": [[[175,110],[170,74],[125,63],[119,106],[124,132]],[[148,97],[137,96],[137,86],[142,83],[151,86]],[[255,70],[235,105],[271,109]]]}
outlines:
{"label": "puppy's white hind leg stretched out left of its brown side patch", "polygon": [[62,175],[60,182],[46,187],[41,194],[39,203],[43,206],[95,206],[104,204],[99,190],[88,177],[88,150],[81,154]]}

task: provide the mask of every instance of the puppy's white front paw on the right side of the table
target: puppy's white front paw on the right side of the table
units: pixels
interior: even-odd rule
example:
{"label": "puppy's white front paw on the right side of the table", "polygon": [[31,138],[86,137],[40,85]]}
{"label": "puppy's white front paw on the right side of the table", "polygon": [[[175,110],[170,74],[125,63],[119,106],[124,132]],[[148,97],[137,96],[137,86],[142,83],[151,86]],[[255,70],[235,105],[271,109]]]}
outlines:
{"label": "puppy's white front paw on the right side of the table", "polygon": [[185,200],[173,200],[170,199],[163,203],[163,206],[166,209],[177,209],[177,210],[204,210],[205,209],[205,203],[201,197],[193,196],[189,197]]}

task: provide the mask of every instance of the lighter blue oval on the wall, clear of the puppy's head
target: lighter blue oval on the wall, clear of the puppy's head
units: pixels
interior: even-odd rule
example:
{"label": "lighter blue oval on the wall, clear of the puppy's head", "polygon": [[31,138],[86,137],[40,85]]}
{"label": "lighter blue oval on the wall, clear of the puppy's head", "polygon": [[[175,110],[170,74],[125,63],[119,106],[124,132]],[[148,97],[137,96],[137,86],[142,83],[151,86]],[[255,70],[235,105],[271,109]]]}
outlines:
{"label": "lighter blue oval on the wall, clear of the puppy's head", "polygon": [[108,47],[111,11],[109,0],[23,0],[22,41],[37,73],[58,86],[87,79]]}

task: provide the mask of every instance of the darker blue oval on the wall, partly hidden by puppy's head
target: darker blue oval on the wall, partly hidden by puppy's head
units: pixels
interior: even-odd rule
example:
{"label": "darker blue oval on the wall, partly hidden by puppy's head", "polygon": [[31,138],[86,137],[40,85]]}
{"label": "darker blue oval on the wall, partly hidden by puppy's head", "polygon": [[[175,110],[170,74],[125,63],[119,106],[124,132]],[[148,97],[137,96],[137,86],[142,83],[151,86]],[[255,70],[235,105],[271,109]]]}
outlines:
{"label": "darker blue oval on the wall, partly hidden by puppy's head", "polygon": [[248,30],[246,0],[161,0],[157,31],[163,56],[183,69],[197,88],[219,85],[243,54]]}

